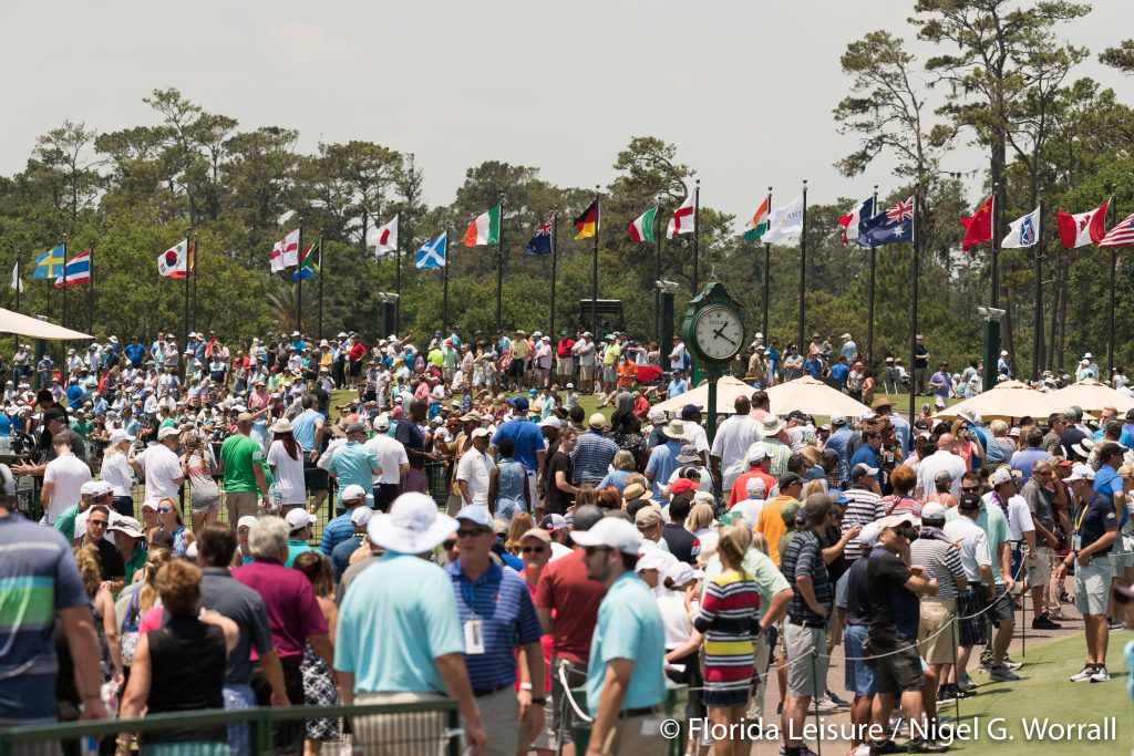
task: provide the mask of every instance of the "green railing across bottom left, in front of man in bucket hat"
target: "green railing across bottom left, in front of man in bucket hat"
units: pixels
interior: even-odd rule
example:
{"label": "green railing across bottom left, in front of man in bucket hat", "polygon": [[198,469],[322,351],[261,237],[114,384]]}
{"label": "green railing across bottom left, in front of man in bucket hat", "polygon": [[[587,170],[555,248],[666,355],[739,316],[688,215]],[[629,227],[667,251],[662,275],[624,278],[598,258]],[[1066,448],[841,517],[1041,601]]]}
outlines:
{"label": "green railing across bottom left, in front of man in bucket hat", "polygon": [[[152,714],[134,720],[52,722],[0,730],[0,756],[99,753],[92,739],[113,744],[122,732],[133,733],[132,753],[141,750],[142,754],[162,756],[229,756],[230,753],[248,756],[302,755],[304,722],[339,717],[350,721],[353,732],[344,738],[349,740],[354,753],[375,756],[458,756],[460,753],[457,702],[443,699],[409,704],[210,710]],[[242,729],[239,737],[247,742],[246,749],[230,750],[227,733],[232,728]],[[217,737],[218,729],[222,737]],[[181,740],[170,742],[171,736]],[[330,742],[332,747],[345,744],[346,740]]]}

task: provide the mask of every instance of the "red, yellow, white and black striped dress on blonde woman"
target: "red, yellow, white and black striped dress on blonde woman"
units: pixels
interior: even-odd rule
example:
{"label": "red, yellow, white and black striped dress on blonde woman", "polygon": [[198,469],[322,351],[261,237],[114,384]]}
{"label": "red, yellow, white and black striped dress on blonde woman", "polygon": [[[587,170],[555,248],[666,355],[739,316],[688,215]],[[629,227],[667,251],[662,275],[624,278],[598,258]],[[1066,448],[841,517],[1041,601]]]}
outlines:
{"label": "red, yellow, white and black striped dress on blonde woman", "polygon": [[729,570],[709,580],[693,619],[693,627],[705,636],[708,686],[714,690],[748,687],[759,618],[760,589],[751,575]]}

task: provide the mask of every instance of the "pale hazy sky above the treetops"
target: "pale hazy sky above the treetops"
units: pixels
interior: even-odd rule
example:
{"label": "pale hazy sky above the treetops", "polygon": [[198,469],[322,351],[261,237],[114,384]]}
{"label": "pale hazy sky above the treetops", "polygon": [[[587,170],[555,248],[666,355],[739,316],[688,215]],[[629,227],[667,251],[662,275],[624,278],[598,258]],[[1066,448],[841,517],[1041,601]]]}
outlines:
{"label": "pale hazy sky above the treetops", "polygon": [[[1098,0],[1066,35],[1081,68],[1134,101],[1134,79],[1094,54],[1131,36],[1129,0]],[[155,122],[142,102],[176,86],[243,128],[297,128],[413,152],[431,204],[454,198],[484,160],[534,165],[562,186],[606,186],[632,136],[672,142],[702,203],[751,214],[810,179],[813,202],[889,188],[888,165],[858,179],[832,163],[854,147],[831,109],[848,79],[846,43],[907,36],[912,0],[501,0],[322,2],[61,0],[8,2],[0,172],[64,119],[115,130]],[[1125,12],[1124,8],[1126,9]],[[869,11],[869,12],[868,12]],[[949,170],[983,164],[963,147]],[[975,189],[973,192],[975,199]]]}

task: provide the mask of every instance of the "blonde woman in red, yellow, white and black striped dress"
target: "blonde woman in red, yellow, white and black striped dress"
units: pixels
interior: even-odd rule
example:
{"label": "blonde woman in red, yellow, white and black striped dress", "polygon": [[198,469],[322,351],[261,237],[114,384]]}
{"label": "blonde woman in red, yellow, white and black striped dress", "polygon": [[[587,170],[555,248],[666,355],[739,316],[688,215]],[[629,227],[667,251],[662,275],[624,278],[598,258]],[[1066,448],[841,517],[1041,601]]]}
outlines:
{"label": "blonde woman in red, yellow, white and black striped dress", "polygon": [[[760,632],[760,591],[744,571],[744,553],[751,543],[752,534],[745,527],[730,525],[720,530],[717,554],[725,570],[709,580],[693,620],[693,627],[704,635],[704,703],[714,724],[738,723],[748,707],[753,639]],[[714,753],[745,756],[750,746],[747,741],[721,740],[714,744]]]}

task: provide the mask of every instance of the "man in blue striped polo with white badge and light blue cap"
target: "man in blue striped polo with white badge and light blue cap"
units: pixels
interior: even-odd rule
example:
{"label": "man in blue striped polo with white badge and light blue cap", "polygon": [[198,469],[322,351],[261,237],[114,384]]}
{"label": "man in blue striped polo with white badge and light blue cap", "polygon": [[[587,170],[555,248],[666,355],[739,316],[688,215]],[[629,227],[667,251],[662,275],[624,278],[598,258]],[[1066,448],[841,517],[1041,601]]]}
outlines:
{"label": "man in blue striped polo with white badge and light blue cap", "polygon": [[[488,507],[463,508],[457,513],[460,555],[446,571],[464,627],[468,683],[488,733],[482,753],[511,756],[518,734],[526,746],[543,728],[542,630],[527,583],[492,559],[493,538]],[[524,661],[518,693],[517,648]]]}

